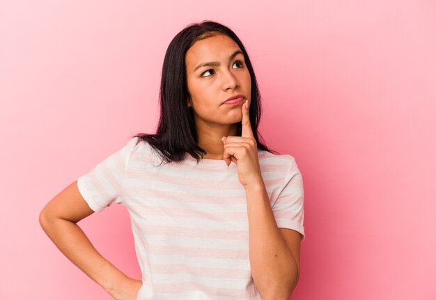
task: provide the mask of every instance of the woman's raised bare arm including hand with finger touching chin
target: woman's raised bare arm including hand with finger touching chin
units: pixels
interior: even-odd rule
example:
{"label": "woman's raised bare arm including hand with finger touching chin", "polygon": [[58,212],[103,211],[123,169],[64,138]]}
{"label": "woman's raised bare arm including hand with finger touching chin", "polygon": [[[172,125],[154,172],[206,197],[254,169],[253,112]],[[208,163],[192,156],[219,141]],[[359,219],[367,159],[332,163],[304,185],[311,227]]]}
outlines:
{"label": "woman's raised bare arm including hand with finger touching chin", "polygon": [[242,135],[223,137],[223,143],[224,160],[238,165],[247,196],[253,281],[263,300],[288,300],[299,280],[300,235],[277,227],[260,172],[248,103],[242,105]]}

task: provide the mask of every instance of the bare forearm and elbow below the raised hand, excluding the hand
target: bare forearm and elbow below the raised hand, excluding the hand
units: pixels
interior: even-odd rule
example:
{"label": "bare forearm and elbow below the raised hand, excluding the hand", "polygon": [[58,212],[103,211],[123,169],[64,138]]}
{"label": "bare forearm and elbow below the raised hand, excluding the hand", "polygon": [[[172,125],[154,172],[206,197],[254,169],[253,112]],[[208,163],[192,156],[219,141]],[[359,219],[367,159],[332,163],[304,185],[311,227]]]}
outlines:
{"label": "bare forearm and elbow below the raised hand, excluding the hand", "polygon": [[251,276],[263,300],[288,300],[299,279],[299,232],[277,228],[265,185],[245,192]]}

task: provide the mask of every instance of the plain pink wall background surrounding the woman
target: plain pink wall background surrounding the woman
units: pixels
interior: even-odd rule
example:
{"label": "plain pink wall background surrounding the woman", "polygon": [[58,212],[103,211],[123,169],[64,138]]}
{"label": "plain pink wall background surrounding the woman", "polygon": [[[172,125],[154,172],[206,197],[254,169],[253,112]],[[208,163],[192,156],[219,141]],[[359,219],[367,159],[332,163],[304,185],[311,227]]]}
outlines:
{"label": "plain pink wall background surrounding the woman", "polygon": [[[0,299],[111,299],[38,215],[129,136],[155,131],[166,47],[203,19],[244,42],[261,132],[304,177],[291,299],[435,299],[435,2],[263,3],[1,1]],[[125,207],[79,225],[141,278]]]}

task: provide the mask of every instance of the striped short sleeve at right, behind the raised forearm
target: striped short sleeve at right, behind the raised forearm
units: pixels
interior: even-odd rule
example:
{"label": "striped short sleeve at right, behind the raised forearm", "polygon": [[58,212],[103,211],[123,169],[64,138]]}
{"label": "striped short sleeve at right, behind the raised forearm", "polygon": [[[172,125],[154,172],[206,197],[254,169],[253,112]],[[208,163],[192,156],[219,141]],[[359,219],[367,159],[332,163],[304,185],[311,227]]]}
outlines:
{"label": "striped short sleeve at right, behind the raised forearm", "polygon": [[272,212],[277,227],[289,228],[299,232],[304,241],[304,189],[303,177],[294,157],[290,157],[290,164],[284,175],[283,188],[277,200],[272,205]]}

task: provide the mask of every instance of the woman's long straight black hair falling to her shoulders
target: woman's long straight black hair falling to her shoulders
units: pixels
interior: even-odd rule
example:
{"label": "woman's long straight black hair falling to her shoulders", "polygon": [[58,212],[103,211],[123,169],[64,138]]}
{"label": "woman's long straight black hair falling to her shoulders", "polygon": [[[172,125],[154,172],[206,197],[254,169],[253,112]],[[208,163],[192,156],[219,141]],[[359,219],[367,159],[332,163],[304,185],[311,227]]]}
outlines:
{"label": "woman's long straight black hair falling to her shoulders", "polygon": [[[245,65],[251,75],[251,103],[249,106],[249,118],[251,129],[256,139],[257,147],[267,152],[277,152],[267,148],[261,142],[262,136],[258,133],[260,123],[261,105],[260,93],[254,70],[247,51],[238,36],[228,27],[205,20],[200,23],[187,25],[171,40],[164,58],[162,67],[162,79],[159,90],[160,117],[156,134],[139,133],[139,137],[149,143],[162,157],[162,162],[182,161],[186,153],[189,153],[197,161],[207,154],[198,146],[194,113],[192,107],[187,107],[189,90],[187,88],[187,76],[185,55],[190,47],[198,40],[209,38],[216,34],[225,34],[232,38],[244,54]],[[242,122],[237,124],[237,135],[242,134]],[[262,139],[263,140],[263,139]],[[161,164],[162,164],[161,162]]]}

